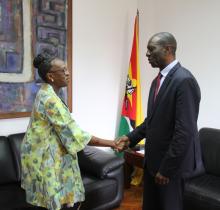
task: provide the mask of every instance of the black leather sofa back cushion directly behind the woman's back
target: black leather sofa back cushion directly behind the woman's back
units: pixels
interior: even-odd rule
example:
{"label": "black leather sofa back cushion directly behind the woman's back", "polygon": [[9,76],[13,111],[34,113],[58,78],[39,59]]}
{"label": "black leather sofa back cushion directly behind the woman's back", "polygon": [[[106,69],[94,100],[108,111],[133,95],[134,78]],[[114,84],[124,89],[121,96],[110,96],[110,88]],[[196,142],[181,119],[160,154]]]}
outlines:
{"label": "black leather sofa back cushion directly behind the woman's back", "polygon": [[21,143],[25,133],[12,134],[8,136],[16,171],[17,179],[21,180]]}

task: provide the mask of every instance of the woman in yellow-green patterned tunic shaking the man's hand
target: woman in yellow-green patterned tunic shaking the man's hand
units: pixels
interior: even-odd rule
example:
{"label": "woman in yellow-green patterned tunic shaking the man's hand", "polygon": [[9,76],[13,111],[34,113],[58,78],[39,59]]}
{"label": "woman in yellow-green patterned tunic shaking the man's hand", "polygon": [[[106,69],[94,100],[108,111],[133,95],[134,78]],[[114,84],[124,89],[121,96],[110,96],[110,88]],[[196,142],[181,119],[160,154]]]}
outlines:
{"label": "woman in yellow-green patterned tunic shaking the man's hand", "polygon": [[39,54],[33,62],[43,83],[37,93],[30,123],[22,142],[22,188],[26,200],[50,210],[77,209],[84,200],[84,187],[77,152],[86,144],[109,146],[114,141],[91,136],[72,119],[67,106],[58,97],[66,87],[69,72],[65,63],[51,54]]}

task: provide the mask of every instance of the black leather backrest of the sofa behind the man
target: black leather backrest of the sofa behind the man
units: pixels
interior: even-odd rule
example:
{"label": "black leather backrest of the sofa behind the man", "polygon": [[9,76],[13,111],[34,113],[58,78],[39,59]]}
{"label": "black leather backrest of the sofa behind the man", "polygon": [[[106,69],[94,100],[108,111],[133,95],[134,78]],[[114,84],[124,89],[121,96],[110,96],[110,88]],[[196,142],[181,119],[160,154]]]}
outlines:
{"label": "black leather backrest of the sofa behind the man", "polygon": [[206,173],[220,176],[220,129],[202,128],[199,138]]}

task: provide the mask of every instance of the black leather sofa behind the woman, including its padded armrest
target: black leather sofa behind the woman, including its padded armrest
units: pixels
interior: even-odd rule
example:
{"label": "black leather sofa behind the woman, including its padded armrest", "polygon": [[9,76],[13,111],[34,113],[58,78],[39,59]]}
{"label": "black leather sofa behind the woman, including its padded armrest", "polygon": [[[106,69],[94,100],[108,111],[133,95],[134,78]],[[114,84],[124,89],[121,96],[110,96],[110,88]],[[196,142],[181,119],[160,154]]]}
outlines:
{"label": "black leather sofa behind the woman, including its padded armrest", "polygon": [[[25,201],[20,187],[20,146],[24,133],[0,136],[0,210],[35,209]],[[113,152],[87,146],[78,153],[85,186],[81,210],[110,210],[120,205],[123,197],[123,158]],[[71,208],[68,208],[71,210]]]}

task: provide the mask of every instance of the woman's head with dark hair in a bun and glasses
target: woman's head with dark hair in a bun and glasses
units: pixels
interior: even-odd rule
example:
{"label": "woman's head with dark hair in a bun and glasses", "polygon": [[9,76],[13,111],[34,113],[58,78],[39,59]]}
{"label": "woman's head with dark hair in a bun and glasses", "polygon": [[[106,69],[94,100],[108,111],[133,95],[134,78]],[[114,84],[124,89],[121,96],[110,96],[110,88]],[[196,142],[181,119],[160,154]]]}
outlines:
{"label": "woman's head with dark hair in a bun and glasses", "polygon": [[67,86],[69,72],[66,64],[52,53],[38,54],[34,58],[33,65],[38,69],[38,74],[44,82],[51,84],[56,89]]}

